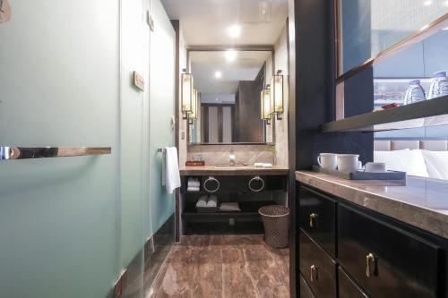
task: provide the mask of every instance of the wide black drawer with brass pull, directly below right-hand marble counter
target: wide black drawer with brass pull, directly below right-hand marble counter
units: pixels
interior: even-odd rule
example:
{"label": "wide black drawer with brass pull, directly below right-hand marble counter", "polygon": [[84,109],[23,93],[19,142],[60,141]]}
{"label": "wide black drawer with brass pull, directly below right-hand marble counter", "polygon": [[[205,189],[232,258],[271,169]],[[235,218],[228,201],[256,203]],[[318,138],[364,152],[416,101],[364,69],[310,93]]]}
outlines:
{"label": "wide black drawer with brass pull, directly below right-hand marble counter", "polygon": [[436,297],[441,249],[358,210],[339,205],[339,260],[373,297]]}

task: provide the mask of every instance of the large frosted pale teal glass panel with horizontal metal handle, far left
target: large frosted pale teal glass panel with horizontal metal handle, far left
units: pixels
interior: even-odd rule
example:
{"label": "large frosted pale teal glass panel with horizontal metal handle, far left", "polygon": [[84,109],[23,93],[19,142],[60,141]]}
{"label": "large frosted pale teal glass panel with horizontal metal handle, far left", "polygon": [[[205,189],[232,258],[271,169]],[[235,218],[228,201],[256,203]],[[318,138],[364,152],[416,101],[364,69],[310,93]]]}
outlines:
{"label": "large frosted pale teal glass panel with horizontal metal handle, far left", "polygon": [[0,143],[112,154],[0,163],[0,295],[106,297],[120,270],[119,1],[11,5]]}

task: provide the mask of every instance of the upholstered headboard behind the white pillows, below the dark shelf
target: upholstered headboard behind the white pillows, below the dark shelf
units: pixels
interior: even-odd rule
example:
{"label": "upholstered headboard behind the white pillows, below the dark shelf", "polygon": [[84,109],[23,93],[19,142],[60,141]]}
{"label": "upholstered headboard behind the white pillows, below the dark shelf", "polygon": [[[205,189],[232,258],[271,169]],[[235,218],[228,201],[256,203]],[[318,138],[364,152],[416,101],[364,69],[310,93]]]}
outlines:
{"label": "upholstered headboard behind the white pillows, below the dark shelf", "polygon": [[448,140],[442,139],[376,139],[375,151],[391,151],[401,149],[425,149],[431,151],[448,151]]}

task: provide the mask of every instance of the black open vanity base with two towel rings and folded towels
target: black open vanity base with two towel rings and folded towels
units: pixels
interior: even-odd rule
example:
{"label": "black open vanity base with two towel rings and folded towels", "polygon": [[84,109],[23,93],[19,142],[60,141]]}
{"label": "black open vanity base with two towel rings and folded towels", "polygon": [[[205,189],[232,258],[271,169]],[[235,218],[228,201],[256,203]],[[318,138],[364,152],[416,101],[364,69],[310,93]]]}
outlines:
{"label": "black open vanity base with two towel rings and folded towels", "polygon": [[[188,181],[192,179],[200,181],[198,191],[188,191]],[[215,198],[216,207],[208,206],[206,202]],[[263,229],[258,209],[267,205],[285,205],[286,198],[286,175],[183,176],[182,225],[187,232],[194,232],[195,223],[237,226],[238,223],[252,222]]]}

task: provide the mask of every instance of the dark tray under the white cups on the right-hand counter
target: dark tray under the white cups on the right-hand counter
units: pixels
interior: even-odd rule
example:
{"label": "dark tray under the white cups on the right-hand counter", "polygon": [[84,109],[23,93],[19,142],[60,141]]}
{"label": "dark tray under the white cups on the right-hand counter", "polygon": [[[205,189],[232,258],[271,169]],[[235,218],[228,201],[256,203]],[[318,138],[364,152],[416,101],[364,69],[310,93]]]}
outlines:
{"label": "dark tray under the white cups on the right-hand counter", "polygon": [[313,166],[313,171],[338,176],[348,180],[406,180],[406,172],[399,171],[387,171],[382,173],[364,171],[340,172],[338,170],[324,169],[320,166]]}

